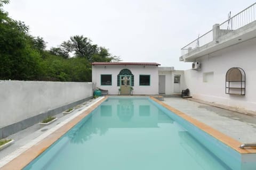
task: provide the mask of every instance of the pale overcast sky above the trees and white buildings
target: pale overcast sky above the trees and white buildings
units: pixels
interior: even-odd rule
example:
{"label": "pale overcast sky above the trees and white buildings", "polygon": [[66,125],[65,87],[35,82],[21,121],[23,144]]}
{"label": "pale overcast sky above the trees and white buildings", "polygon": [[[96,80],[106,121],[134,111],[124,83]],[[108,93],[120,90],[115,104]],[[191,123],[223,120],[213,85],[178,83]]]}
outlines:
{"label": "pale overcast sky above the trees and white buildings", "polygon": [[250,6],[252,0],[11,0],[11,18],[43,37],[47,49],[83,35],[123,62],[156,62],[190,69],[179,62],[180,49],[215,23]]}

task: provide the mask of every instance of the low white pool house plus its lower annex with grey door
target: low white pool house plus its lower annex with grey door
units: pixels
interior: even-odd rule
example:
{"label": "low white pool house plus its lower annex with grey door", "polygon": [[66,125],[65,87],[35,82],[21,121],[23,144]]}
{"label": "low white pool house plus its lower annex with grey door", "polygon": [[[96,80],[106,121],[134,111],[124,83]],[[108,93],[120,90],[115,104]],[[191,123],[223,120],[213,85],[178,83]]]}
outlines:
{"label": "low white pool house plus its lower annex with grey door", "polygon": [[184,71],[158,67],[158,63],[92,63],[92,82],[109,95],[125,94],[119,89],[126,83],[133,95],[180,95],[185,89]]}

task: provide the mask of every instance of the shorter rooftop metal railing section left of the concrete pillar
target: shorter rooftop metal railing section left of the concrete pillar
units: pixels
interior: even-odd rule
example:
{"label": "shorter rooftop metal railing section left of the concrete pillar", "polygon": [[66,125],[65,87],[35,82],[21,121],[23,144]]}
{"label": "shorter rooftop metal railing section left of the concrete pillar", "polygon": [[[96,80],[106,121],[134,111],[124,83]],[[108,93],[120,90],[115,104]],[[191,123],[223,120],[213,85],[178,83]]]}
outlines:
{"label": "shorter rooftop metal railing section left of the concrete pillar", "polygon": [[212,30],[206,32],[204,35],[198,37],[185,47],[181,48],[181,55],[187,54],[190,50],[193,50],[197,47],[202,47],[205,44],[208,44],[212,41],[213,39],[213,33]]}

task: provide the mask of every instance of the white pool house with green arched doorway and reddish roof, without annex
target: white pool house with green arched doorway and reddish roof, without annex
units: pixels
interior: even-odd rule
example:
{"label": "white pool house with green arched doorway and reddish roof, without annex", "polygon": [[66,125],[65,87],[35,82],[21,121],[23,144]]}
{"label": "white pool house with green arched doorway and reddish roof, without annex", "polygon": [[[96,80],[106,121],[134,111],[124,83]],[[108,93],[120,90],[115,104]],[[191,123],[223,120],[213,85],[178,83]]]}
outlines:
{"label": "white pool house with green arched doorway and reddish roof, without annex", "polygon": [[[109,95],[157,95],[158,63],[92,63],[92,82],[100,89],[108,90]],[[119,91],[127,86],[129,92]]]}

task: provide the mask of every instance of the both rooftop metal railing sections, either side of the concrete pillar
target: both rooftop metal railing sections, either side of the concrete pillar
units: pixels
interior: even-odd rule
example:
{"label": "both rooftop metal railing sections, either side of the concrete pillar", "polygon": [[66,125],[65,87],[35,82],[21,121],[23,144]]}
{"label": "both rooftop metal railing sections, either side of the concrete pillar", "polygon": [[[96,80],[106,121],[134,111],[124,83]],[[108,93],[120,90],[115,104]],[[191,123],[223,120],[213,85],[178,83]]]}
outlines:
{"label": "both rooftop metal railing sections, either side of the concrete pillar", "polygon": [[[227,33],[233,32],[244,25],[255,21],[256,18],[256,3],[245,8],[243,11],[237,13],[236,15],[229,18],[227,21],[219,25],[219,35],[218,37],[225,36]],[[187,54],[190,50],[194,50],[197,47],[202,47],[205,44],[211,43],[213,41],[213,30],[206,32],[201,37],[198,37],[185,47],[181,48],[181,56]]]}

